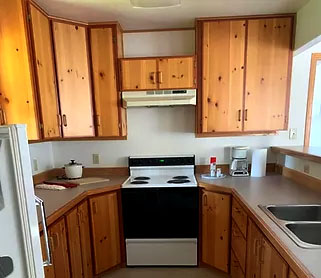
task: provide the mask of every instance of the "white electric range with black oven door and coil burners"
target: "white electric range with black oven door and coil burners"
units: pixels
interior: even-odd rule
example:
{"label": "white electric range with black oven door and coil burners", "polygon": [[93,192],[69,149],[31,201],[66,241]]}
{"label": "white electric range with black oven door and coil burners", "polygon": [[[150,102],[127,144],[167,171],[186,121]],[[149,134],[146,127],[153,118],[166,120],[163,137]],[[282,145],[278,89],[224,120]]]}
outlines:
{"label": "white electric range with black oven door and coil burners", "polygon": [[196,266],[199,192],[195,156],[129,157],[122,185],[129,266]]}

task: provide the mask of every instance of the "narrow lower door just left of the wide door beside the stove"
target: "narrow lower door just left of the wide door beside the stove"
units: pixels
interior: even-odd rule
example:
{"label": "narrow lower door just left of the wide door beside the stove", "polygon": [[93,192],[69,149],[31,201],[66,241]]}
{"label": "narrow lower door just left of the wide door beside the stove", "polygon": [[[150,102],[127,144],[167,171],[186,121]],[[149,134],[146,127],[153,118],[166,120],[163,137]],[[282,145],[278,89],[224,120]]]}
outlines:
{"label": "narrow lower door just left of the wide door beside the stove", "polygon": [[80,242],[81,242],[81,256],[84,278],[93,277],[93,265],[92,265],[92,248],[90,237],[90,223],[88,202],[84,202],[78,206],[79,215],[79,229],[80,229]]}

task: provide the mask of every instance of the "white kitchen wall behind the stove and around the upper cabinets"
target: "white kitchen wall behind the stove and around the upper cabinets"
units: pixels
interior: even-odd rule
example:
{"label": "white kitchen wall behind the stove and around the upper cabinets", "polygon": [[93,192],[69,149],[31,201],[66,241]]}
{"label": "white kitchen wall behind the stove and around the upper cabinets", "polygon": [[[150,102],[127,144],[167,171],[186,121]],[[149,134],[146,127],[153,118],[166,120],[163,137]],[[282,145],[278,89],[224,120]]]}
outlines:
{"label": "white kitchen wall behind the stove and around the upper cabinets", "polygon": [[[192,31],[127,33],[124,42],[127,57],[193,54],[195,48]],[[295,57],[293,66],[289,126],[298,129],[296,140],[289,140],[286,131],[272,136],[195,138],[194,107],[130,108],[127,141],[53,142],[54,165],[61,167],[69,159],[77,159],[86,166],[126,166],[129,155],[189,153],[196,154],[197,164],[207,164],[211,155],[218,157],[218,163],[228,163],[230,146],[302,145],[307,96],[302,67],[306,65]],[[96,153],[100,154],[100,165],[92,164]],[[269,161],[276,158],[270,154]]]}

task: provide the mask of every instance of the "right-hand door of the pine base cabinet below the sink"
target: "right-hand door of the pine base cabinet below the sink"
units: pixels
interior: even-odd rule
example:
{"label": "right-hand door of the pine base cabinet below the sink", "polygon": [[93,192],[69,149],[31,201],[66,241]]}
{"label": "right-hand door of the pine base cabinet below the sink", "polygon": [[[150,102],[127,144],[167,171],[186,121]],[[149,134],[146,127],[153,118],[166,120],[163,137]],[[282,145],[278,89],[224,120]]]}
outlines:
{"label": "right-hand door of the pine base cabinet below the sink", "polygon": [[287,263],[265,237],[262,240],[260,262],[262,264],[261,278],[287,278]]}

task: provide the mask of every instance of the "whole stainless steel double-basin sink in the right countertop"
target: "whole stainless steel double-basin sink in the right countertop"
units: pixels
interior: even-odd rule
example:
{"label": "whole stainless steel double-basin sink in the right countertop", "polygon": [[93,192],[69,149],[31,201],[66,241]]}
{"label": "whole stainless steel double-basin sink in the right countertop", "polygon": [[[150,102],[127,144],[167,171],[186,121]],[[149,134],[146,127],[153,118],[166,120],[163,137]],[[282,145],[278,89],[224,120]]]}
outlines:
{"label": "whole stainless steel double-basin sink in the right countertop", "polygon": [[321,249],[321,205],[259,207],[299,246]]}

